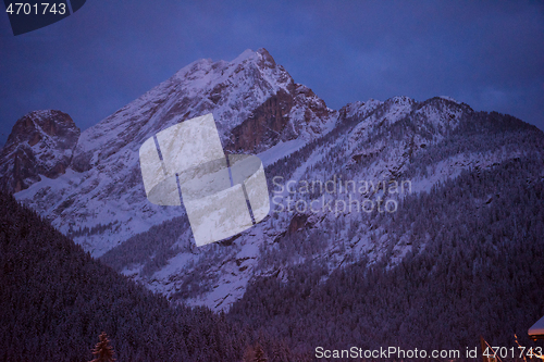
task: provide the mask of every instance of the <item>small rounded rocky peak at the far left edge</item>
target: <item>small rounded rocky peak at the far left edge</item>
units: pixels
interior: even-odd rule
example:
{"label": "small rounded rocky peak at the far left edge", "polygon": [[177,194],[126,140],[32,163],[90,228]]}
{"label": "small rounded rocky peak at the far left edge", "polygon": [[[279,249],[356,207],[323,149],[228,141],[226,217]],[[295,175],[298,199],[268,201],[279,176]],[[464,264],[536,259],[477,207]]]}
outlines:
{"label": "small rounded rocky peak at the far left edge", "polygon": [[57,178],[72,161],[81,130],[61,111],[34,111],[20,118],[0,152],[0,185],[18,192],[41,176]]}

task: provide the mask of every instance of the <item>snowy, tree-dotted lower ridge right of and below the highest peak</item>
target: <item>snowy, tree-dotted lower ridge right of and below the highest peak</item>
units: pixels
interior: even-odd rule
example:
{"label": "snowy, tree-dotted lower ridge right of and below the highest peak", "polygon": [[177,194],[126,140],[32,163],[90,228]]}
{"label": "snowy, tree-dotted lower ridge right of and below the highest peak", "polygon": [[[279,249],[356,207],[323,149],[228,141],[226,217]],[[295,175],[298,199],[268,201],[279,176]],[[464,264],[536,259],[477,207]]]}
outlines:
{"label": "snowy, tree-dotted lower ridge right of and below the highest peak", "polygon": [[362,257],[398,262],[412,250],[413,236],[387,230],[410,208],[407,197],[461,171],[521,155],[542,159],[543,145],[535,127],[448,99],[348,104],[331,133],[267,167],[268,220],[231,240],[193,248],[181,219],[131,238],[102,260],[174,300],[227,309],[256,276],[283,278],[299,263],[332,271]]}

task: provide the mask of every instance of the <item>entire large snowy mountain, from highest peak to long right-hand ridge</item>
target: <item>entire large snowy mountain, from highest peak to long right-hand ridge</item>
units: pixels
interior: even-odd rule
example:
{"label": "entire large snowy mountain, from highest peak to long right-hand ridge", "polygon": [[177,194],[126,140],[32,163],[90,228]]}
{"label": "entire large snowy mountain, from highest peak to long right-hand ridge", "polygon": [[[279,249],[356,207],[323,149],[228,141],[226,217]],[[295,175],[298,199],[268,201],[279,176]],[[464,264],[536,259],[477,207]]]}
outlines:
{"label": "entire large snowy mountain, from highest peak to long right-hand ridge", "polygon": [[[334,175],[384,185],[409,179],[410,192],[426,192],[463,170],[542,157],[542,132],[535,127],[445,97],[423,102],[395,97],[330,110],[259,50],[231,63],[202,60],[184,67],[84,132],[64,175],[16,197],[150,289],[212,309],[227,309],[254,277],[284,278],[286,269],[308,260],[334,270],[362,254],[396,263],[412,250],[409,233],[387,234],[395,214],[325,209],[271,212],[239,236],[196,248],[183,209],[156,207],[145,198],[137,150],[158,130],[210,111],[227,151],[259,152],[272,200],[284,207],[289,192],[274,191],[274,176],[284,183],[325,183]],[[359,202],[388,198],[409,207],[403,204],[407,194],[385,187],[357,194]],[[325,204],[349,201],[347,195],[296,197],[307,204],[321,197]]]}

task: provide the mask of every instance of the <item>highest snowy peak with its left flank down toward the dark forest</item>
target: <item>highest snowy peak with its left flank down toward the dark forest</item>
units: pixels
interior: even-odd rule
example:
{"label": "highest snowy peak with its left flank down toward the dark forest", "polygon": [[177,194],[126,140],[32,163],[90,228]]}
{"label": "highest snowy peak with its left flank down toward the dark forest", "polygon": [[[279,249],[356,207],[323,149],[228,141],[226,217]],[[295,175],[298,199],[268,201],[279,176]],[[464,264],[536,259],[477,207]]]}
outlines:
{"label": "highest snowy peak with its left flank down toward the dark forest", "polygon": [[[148,202],[138,149],[159,130],[210,112],[225,150],[246,153],[279,142],[310,141],[337,118],[264,49],[246,50],[232,62],[199,60],[85,130],[65,174],[51,179],[38,168],[41,176],[27,182],[29,187],[16,197],[100,255],[132,235],[184,214],[182,208]],[[3,179],[13,177],[3,173]],[[91,233],[79,237],[81,229]]]}

